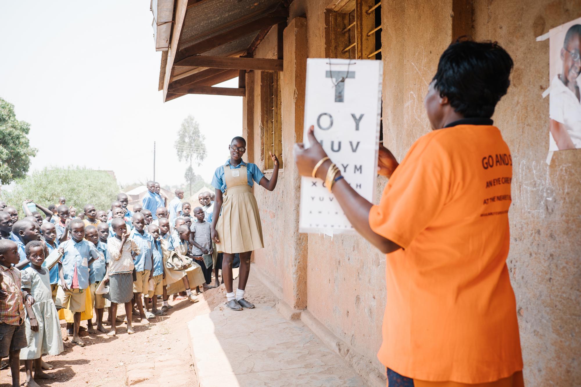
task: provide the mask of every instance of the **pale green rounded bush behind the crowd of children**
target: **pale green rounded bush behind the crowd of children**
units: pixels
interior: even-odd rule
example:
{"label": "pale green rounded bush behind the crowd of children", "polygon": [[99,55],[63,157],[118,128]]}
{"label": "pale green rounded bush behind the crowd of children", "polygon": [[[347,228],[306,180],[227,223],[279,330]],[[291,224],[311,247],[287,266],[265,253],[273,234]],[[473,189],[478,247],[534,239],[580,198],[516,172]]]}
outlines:
{"label": "pale green rounded bush behind the crowd of children", "polygon": [[50,204],[58,204],[59,197],[64,196],[67,205],[76,207],[79,214],[83,212],[85,204],[89,203],[107,211],[118,193],[117,181],[109,173],[69,167],[35,171],[26,178],[16,180],[14,189],[2,191],[1,197],[18,209],[19,218],[22,219],[22,202],[26,199],[48,207]]}

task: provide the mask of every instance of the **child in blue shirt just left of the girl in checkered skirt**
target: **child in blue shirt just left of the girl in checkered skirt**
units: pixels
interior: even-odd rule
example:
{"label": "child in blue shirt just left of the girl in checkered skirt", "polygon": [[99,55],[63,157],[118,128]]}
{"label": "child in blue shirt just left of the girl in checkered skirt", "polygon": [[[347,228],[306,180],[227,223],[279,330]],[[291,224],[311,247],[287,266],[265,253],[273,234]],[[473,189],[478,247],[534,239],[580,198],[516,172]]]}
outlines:
{"label": "child in blue shirt just left of the girl in checkered skirt", "polygon": [[[107,229],[108,232],[109,229]],[[97,330],[106,333],[107,331],[103,327],[103,310],[107,306],[107,300],[103,298],[102,294],[95,294],[95,290],[99,287],[103,278],[105,278],[107,266],[109,266],[109,252],[107,252],[107,245],[101,243],[99,240],[99,234],[95,226],[85,227],[85,239],[95,245],[100,256],[99,259],[96,259],[89,265],[89,290],[91,291],[91,308],[95,308],[95,314],[97,316]],[[92,319],[87,320],[87,331],[89,334],[96,333],[95,328],[93,328]]]}

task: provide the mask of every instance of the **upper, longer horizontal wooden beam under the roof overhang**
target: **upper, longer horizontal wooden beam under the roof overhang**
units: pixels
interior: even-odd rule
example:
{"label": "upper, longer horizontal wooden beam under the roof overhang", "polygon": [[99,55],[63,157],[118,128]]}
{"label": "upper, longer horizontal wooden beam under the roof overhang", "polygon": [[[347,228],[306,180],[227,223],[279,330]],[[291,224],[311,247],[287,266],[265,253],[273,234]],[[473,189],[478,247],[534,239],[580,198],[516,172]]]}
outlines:
{"label": "upper, longer horizontal wooden beam under the roof overhang", "polygon": [[282,71],[282,59],[195,55],[174,63],[174,66]]}

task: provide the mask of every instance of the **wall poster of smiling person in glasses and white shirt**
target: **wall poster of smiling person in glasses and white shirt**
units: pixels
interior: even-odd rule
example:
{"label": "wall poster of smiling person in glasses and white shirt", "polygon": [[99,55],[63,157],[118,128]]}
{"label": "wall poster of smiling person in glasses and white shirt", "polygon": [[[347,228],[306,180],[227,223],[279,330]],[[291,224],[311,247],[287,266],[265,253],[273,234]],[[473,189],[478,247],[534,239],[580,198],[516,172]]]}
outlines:
{"label": "wall poster of smiling person in glasses and white shirt", "polygon": [[581,148],[581,17],[549,31],[549,151]]}

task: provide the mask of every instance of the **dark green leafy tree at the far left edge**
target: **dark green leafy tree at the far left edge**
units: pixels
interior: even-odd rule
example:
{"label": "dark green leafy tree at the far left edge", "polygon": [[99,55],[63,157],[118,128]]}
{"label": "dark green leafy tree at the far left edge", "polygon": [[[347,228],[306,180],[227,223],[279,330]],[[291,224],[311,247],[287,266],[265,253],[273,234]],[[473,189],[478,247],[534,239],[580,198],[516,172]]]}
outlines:
{"label": "dark green leafy tree at the far left edge", "polygon": [[23,178],[37,149],[28,142],[30,124],[16,120],[14,105],[0,98],[0,183]]}

